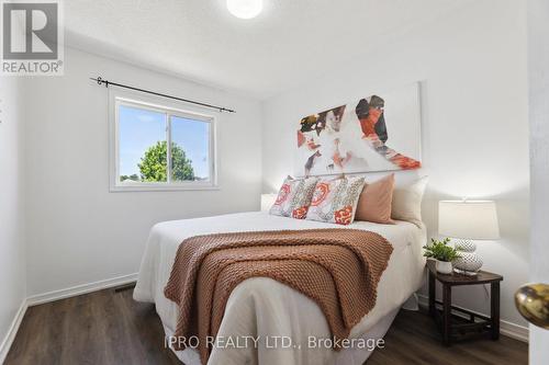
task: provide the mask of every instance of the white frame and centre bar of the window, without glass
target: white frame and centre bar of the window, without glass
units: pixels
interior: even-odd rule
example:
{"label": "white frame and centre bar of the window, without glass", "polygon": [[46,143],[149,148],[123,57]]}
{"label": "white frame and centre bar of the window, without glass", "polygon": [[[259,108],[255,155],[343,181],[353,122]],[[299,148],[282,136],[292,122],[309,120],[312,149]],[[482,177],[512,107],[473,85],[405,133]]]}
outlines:
{"label": "white frame and centre bar of the window, without glass", "polygon": [[[153,112],[166,113],[166,141],[171,146],[171,116],[190,118],[210,123],[209,159],[210,179],[206,181],[171,182],[170,168],[167,171],[168,181],[163,182],[125,182],[120,181],[120,128],[119,106],[127,105]],[[164,98],[145,95],[120,89],[109,89],[109,170],[111,192],[152,192],[152,191],[193,191],[219,190],[217,185],[217,148],[216,148],[216,118],[213,115],[201,113],[200,110],[189,107],[182,102],[172,102]],[[168,163],[171,166],[170,149],[168,148]]]}

